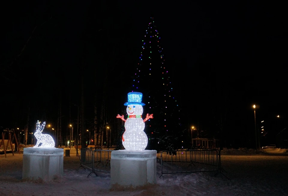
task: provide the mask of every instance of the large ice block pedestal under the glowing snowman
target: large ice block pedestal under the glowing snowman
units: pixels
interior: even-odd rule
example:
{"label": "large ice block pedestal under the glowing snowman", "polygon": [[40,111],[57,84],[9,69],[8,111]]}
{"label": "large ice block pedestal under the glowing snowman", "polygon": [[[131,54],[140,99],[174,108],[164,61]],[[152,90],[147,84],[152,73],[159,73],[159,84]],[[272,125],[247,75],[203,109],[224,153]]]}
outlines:
{"label": "large ice block pedestal under the glowing snowman", "polygon": [[156,150],[117,150],[111,153],[111,185],[156,184]]}

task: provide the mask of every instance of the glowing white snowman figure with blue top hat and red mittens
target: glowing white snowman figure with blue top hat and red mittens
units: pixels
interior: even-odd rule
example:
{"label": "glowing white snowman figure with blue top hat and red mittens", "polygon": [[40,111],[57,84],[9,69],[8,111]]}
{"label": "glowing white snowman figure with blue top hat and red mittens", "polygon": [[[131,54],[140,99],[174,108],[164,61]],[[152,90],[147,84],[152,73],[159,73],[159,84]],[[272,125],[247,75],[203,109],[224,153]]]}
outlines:
{"label": "glowing white snowman figure with blue top hat and red mittens", "polygon": [[124,115],[119,114],[116,118],[121,118],[125,122],[125,132],[122,135],[122,144],[126,150],[144,150],[148,143],[148,138],[144,132],[145,124],[149,118],[153,118],[153,114],[146,115],[146,118],[142,119],[143,107],[145,106],[142,101],[142,93],[131,92],[128,93],[128,102],[124,103],[127,106],[126,112],[128,118],[125,120]]}

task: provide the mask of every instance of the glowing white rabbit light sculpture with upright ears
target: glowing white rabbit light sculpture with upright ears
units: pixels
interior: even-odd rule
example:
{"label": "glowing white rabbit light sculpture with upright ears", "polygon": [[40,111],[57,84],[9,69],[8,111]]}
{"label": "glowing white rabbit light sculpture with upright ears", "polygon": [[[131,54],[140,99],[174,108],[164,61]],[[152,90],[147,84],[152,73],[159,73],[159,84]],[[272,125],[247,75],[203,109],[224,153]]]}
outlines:
{"label": "glowing white rabbit light sculpture with upright ears", "polygon": [[[44,122],[40,128],[40,123],[37,121],[37,126],[36,126],[36,132],[34,136],[37,139],[37,143],[33,147],[38,147],[38,148],[55,148],[55,142],[54,139],[48,135],[48,134],[42,134],[42,131],[45,127],[46,122]],[[39,144],[42,143],[41,146]]]}

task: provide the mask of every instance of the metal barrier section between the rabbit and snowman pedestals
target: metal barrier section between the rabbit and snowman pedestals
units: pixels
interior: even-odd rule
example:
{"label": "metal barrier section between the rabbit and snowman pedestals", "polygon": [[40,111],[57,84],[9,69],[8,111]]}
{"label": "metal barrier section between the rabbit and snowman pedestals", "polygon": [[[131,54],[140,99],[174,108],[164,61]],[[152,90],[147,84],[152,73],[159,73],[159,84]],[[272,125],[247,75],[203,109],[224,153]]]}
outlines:
{"label": "metal barrier section between the rabbit and snowman pedestals", "polygon": [[110,172],[110,160],[112,151],[113,150],[81,148],[81,161],[77,170],[79,170],[80,167],[82,167],[84,170],[91,170],[87,178],[89,178],[92,173],[95,173],[95,175],[98,176],[95,171]]}

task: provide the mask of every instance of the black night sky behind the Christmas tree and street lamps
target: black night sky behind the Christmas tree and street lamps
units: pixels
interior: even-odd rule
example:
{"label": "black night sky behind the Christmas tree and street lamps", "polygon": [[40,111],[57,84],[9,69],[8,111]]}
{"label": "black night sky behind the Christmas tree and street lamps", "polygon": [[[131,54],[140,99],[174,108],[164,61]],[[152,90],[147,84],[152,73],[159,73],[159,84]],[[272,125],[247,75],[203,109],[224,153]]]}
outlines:
{"label": "black night sky behind the Christmas tree and street lamps", "polygon": [[[256,104],[257,123],[264,120],[270,134],[266,137],[271,137],[287,124],[285,8],[202,1],[2,5],[0,126],[24,128],[29,106],[31,121],[55,124],[61,94],[66,127],[69,98],[76,105],[80,102],[83,70],[86,127],[93,124],[93,93],[97,90],[101,96],[106,75],[108,118],[114,122],[125,109],[125,84],[153,16],[187,129],[198,124],[219,135],[222,116],[225,144],[251,145],[247,141],[254,136]],[[77,107],[71,105],[71,121],[76,118]]]}

